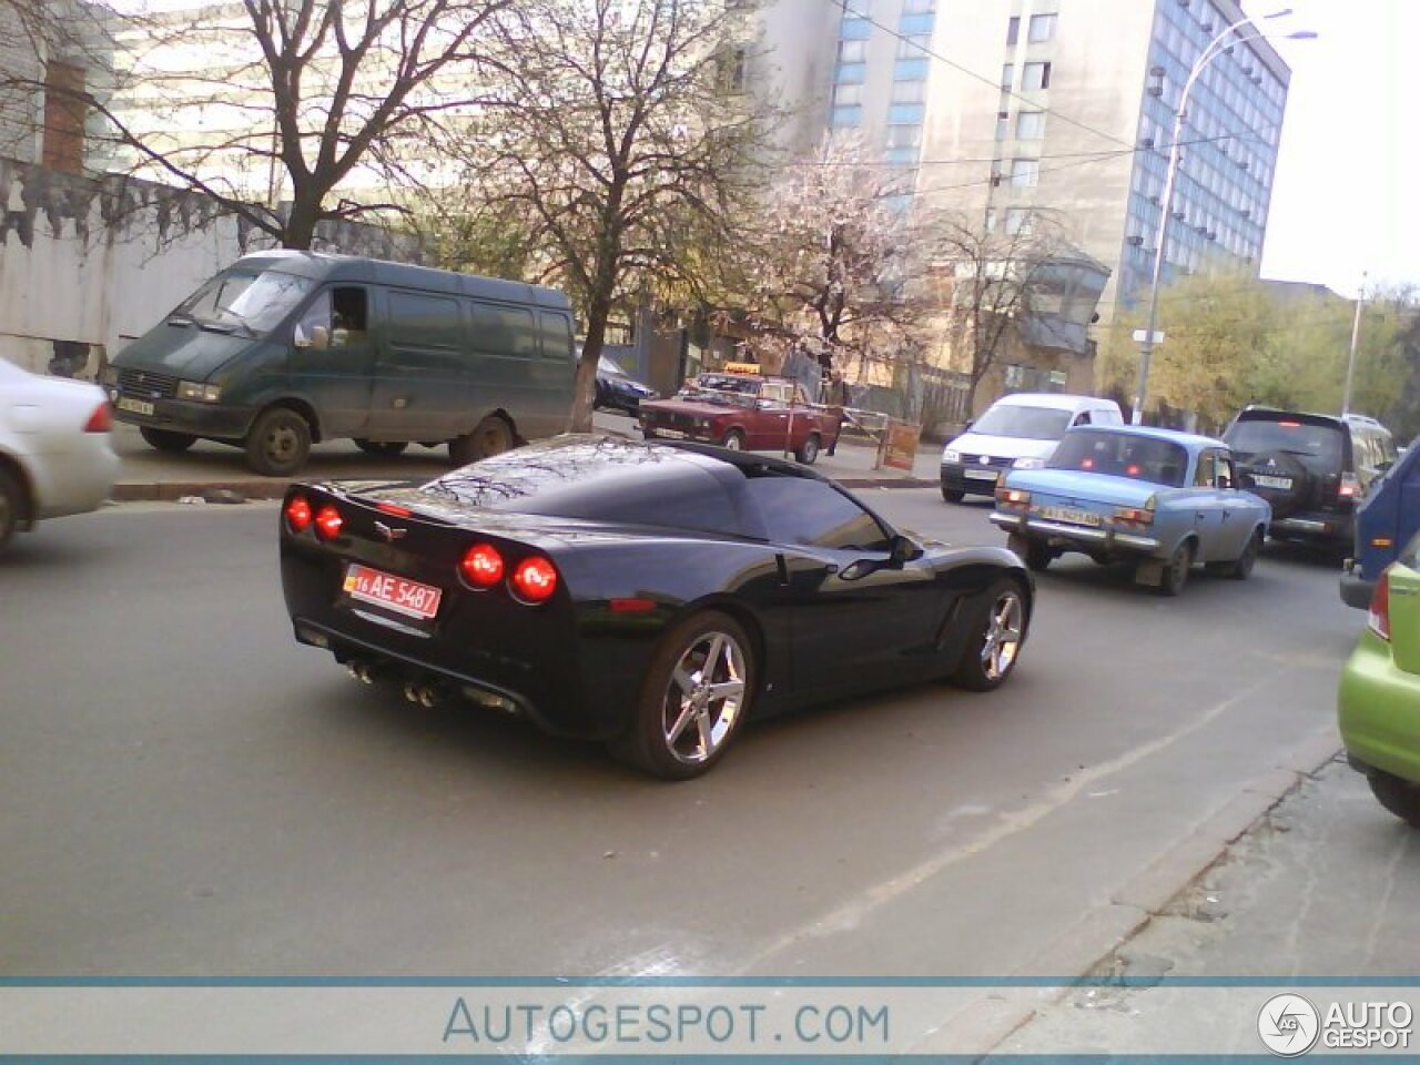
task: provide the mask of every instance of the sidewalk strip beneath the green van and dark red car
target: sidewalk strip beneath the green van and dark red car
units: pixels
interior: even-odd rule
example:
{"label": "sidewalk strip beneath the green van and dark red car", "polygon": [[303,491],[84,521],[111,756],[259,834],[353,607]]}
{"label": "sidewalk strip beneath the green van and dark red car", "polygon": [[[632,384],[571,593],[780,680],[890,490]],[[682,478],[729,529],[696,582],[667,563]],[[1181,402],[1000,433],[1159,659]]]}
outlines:
{"label": "sidewalk strip beneath the green van and dark red car", "polygon": [[[596,427],[632,436],[633,422],[615,415],[596,415]],[[114,450],[122,466],[114,486],[114,500],[179,500],[187,496],[209,501],[280,498],[291,480],[433,480],[450,469],[449,449],[410,444],[389,459],[365,454],[349,440],[315,444],[305,469],[294,479],[263,477],[247,469],[240,449],[199,440],[182,454],[165,454],[149,447],[131,425],[114,426]],[[924,443],[917,450],[913,471],[873,469],[876,452],[858,442],[839,443],[835,454],[821,454],[814,469],[849,488],[936,487],[940,449]]]}

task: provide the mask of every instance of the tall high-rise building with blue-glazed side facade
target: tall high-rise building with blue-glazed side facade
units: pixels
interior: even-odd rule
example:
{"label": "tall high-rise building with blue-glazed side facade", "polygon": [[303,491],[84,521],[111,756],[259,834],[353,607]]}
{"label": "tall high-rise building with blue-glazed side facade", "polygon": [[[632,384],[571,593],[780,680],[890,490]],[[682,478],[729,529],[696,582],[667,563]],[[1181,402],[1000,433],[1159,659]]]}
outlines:
{"label": "tall high-rise building with blue-glazed side facade", "polygon": [[1058,213],[1109,317],[1149,285],[1184,84],[1237,23],[1190,92],[1167,281],[1261,258],[1291,71],[1235,0],[777,0],[767,78],[797,146],[858,129],[983,226]]}

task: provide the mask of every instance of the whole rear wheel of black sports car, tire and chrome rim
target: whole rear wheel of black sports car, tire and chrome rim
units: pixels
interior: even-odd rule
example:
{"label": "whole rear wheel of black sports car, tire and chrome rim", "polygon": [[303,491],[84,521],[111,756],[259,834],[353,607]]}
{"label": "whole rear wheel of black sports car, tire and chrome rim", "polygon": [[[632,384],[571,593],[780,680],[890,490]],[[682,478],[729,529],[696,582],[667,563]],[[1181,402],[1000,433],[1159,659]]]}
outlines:
{"label": "whole rear wheel of black sports car, tire and chrome rim", "polygon": [[709,771],[740,731],[757,677],[754,646],[734,618],[706,611],[660,640],[616,758],[662,780]]}

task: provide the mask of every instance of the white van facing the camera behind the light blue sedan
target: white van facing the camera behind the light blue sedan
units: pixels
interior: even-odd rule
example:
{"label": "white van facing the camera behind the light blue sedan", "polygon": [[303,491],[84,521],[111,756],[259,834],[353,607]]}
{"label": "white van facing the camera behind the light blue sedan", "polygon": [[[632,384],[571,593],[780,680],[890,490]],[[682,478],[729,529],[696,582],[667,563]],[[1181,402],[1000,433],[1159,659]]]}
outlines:
{"label": "white van facing the camera behind the light blue sedan", "polygon": [[1017,459],[1049,459],[1066,429],[1123,422],[1112,399],[1059,392],[1001,396],[941,450],[941,498],[960,503],[967,493],[991,496]]}

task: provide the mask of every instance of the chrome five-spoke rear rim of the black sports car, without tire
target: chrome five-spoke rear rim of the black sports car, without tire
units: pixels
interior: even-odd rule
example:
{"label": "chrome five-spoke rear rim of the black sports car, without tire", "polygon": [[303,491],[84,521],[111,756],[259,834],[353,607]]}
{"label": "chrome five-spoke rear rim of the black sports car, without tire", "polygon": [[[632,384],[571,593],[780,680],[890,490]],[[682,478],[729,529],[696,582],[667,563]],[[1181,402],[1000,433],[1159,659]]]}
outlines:
{"label": "chrome five-spoke rear rim of the black sports car, without tire", "polygon": [[724,632],[704,632],[680,653],[662,704],[662,736],[677,761],[710,758],[744,707],[744,650]]}

